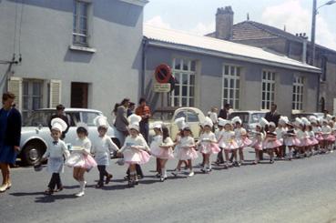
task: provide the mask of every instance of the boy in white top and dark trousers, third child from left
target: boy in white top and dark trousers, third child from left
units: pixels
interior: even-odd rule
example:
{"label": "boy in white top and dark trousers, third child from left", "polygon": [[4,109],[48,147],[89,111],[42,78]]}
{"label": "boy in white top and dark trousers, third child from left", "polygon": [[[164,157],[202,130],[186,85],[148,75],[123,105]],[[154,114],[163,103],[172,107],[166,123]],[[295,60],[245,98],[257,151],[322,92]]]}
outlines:
{"label": "boy in white top and dark trousers, third child from left", "polygon": [[109,166],[110,154],[113,151],[118,151],[118,147],[113,143],[110,137],[107,137],[107,129],[109,127],[107,123],[107,117],[98,116],[95,118],[94,123],[97,126],[99,136],[92,142],[91,153],[95,155],[97,167],[99,171],[99,181],[96,188],[102,188],[104,186],[104,177],[107,177],[105,184],[108,184],[111,178],[111,174],[107,172]]}

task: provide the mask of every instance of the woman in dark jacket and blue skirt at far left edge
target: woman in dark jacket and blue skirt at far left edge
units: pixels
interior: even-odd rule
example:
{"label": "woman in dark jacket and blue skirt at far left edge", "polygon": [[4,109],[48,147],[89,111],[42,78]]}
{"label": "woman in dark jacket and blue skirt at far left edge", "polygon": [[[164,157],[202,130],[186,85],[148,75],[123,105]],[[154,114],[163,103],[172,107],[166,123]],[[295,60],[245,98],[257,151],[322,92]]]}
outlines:
{"label": "woman in dark jacket and blue skirt at far left edge", "polygon": [[3,184],[0,192],[11,188],[10,165],[15,164],[17,153],[20,151],[21,114],[15,109],[15,95],[3,94],[3,107],[0,109],[0,168]]}

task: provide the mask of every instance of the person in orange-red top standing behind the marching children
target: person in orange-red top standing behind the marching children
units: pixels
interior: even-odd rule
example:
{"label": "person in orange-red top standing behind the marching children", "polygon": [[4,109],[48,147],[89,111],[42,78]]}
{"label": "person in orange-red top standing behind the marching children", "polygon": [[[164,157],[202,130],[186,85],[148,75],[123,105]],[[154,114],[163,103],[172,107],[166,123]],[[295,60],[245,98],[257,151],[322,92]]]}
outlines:
{"label": "person in orange-red top standing behind the marching children", "polygon": [[140,133],[145,138],[145,140],[148,142],[148,133],[149,133],[149,125],[148,120],[151,116],[150,114],[150,108],[146,104],[146,99],[141,97],[139,102],[139,106],[137,106],[136,114],[137,116],[140,116],[142,119],[139,123],[140,127]]}

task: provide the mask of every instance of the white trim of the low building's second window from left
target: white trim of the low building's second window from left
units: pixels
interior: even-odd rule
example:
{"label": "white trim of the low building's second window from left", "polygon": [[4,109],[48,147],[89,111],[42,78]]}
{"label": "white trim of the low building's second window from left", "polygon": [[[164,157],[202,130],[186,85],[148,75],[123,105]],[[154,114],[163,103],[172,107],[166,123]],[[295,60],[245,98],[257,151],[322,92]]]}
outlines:
{"label": "white trim of the low building's second window from left", "polygon": [[[225,66],[229,66],[229,75],[226,75],[225,74]],[[234,67],[235,68],[235,76],[231,76],[231,67]],[[239,73],[239,76],[237,76],[237,68],[240,69],[240,73]],[[240,76],[241,76],[241,66],[237,66],[237,65],[230,65],[230,64],[224,64],[222,66],[222,78],[221,78],[221,107],[224,106],[224,100],[225,99],[230,99],[232,98],[232,101],[233,101],[233,105],[231,105],[233,107],[233,109],[239,109],[240,108],[240,89],[241,89],[241,80],[240,80]],[[228,78],[228,80],[230,79],[234,79],[234,82],[233,82],[233,97],[230,97],[228,96],[228,98],[224,98],[224,84],[225,84],[225,78]],[[236,101],[237,101],[237,97],[236,97],[236,91],[237,91],[237,80],[239,80],[239,102],[238,102],[238,107],[236,105]],[[230,81],[228,81],[228,86],[229,86],[229,83]],[[231,87],[229,87],[230,89]],[[229,93],[229,91],[228,91]]]}

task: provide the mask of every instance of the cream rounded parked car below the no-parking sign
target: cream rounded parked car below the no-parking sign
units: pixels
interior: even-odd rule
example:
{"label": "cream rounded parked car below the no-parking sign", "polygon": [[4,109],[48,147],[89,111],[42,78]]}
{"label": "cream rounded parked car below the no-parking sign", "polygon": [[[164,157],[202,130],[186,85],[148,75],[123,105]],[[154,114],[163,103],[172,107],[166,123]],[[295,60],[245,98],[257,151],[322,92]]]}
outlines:
{"label": "cream rounded parked car below the no-parking sign", "polygon": [[153,123],[155,121],[162,121],[168,127],[169,134],[174,140],[178,134],[178,127],[175,124],[175,119],[178,117],[185,117],[186,122],[191,128],[192,134],[196,139],[199,138],[199,125],[204,122],[205,116],[199,108],[196,107],[161,107],[154,111],[149,120],[149,137],[154,136]]}

